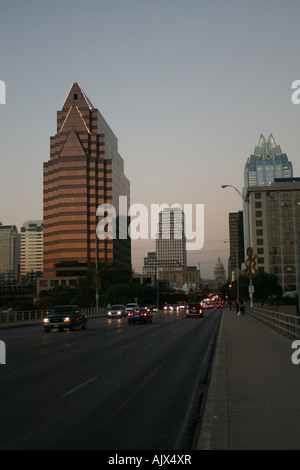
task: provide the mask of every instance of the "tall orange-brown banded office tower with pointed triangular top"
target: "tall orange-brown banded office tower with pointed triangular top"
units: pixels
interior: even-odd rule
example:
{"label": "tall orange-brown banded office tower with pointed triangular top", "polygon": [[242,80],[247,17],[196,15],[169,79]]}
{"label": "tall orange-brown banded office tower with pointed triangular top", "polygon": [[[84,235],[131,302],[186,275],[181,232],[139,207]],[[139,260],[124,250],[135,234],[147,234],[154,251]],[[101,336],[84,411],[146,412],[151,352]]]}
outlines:
{"label": "tall orange-brown banded office tower with pointed triangular top", "polygon": [[96,253],[99,263],[131,269],[128,237],[96,238],[97,207],[113,205],[118,227],[120,196],[126,196],[128,209],[130,184],[117,138],[73,83],[57,112],[57,133],[44,163],[44,277],[82,275],[95,265]]}

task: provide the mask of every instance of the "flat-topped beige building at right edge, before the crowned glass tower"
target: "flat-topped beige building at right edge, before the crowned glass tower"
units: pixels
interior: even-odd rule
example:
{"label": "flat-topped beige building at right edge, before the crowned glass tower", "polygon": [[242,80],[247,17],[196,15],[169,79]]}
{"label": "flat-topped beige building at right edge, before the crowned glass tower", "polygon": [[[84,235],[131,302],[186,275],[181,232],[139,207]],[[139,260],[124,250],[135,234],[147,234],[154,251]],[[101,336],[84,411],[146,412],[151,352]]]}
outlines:
{"label": "flat-topped beige building at right edge, before the crowned glass tower", "polygon": [[268,186],[249,186],[246,196],[258,272],[275,274],[285,292],[295,291],[300,178],[282,178]]}

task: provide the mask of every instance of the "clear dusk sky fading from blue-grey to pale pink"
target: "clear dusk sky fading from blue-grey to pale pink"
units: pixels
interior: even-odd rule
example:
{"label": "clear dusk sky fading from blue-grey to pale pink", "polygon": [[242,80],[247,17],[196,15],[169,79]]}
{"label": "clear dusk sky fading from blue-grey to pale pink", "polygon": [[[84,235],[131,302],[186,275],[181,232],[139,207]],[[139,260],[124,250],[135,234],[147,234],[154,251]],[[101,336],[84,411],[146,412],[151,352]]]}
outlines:
{"label": "clear dusk sky fading from blue-grey to pale pink", "polygon": [[[227,269],[242,199],[221,185],[242,190],[260,134],[300,176],[299,18],[299,0],[1,0],[0,221],[42,219],[43,162],[78,82],[118,138],[131,203],[204,204],[189,265]],[[147,251],[132,243],[137,271]]]}

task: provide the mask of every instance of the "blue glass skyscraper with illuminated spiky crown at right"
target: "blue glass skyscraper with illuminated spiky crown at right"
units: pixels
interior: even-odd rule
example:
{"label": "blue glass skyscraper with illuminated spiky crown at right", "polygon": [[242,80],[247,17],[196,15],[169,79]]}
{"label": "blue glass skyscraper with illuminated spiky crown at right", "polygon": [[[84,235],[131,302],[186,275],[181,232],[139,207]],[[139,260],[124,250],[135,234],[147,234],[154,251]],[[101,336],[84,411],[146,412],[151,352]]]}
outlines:
{"label": "blue glass skyscraper with illuminated spiky crown at right", "polygon": [[[269,186],[276,178],[292,178],[293,165],[289,162],[285,153],[279,145],[276,144],[272,134],[269,135],[268,140],[261,134],[258,145],[255,147],[254,152],[247,160],[244,171],[244,197],[247,188],[251,186]],[[243,218],[244,218],[244,242],[245,252],[251,245],[252,241],[249,238],[249,210],[248,201],[243,204]]]}

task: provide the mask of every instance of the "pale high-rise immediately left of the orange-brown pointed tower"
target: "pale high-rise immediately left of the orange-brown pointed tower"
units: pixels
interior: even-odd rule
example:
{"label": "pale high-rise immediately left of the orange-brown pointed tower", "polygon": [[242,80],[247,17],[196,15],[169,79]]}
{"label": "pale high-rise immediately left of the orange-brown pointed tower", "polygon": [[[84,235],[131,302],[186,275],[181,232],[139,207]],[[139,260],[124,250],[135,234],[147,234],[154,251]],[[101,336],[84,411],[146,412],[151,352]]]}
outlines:
{"label": "pale high-rise immediately left of the orange-brown pointed tower", "polygon": [[30,220],[21,227],[21,276],[34,280],[43,273],[43,221]]}

